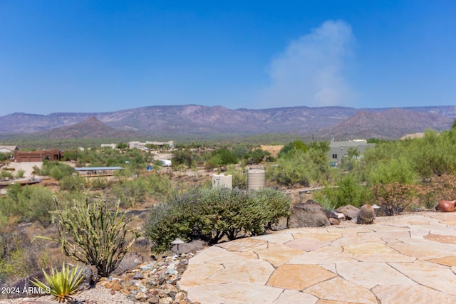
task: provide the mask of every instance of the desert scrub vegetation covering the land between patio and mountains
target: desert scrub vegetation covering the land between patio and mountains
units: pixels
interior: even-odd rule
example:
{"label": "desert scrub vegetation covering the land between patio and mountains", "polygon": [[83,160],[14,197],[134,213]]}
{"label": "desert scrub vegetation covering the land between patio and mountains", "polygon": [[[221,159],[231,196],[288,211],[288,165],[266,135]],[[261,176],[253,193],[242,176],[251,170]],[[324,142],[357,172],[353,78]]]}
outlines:
{"label": "desert scrub vegetation covering the land between patio and mountains", "polygon": [[[11,184],[0,196],[0,283],[72,258],[107,276],[128,249],[165,251],[177,237],[212,244],[264,234],[289,214],[292,201],[284,190],[314,189],[313,199],[325,209],[378,204],[387,216],[432,209],[440,199],[455,196],[455,128],[427,130],[413,140],[372,139],[375,148],[363,155],[350,150],[338,167],[328,162],[328,142],[286,139],[278,157],[249,142],[181,143],[167,151],[172,167],[160,167],[151,153],[157,147],[143,151],[121,143],[115,149],[88,143],[84,150],[68,149],[62,162],[46,161],[35,169],[34,174],[46,177],[43,183]],[[124,169],[90,178],[74,170],[90,166]],[[252,166],[266,169],[266,189],[247,190],[246,172]],[[212,189],[214,173],[231,174],[234,188]],[[1,170],[1,176],[14,181],[24,172]],[[81,243],[75,232],[95,234],[96,229],[109,238]],[[135,248],[137,236],[145,236],[150,245]],[[91,255],[95,248],[115,254],[109,263],[101,261]]]}

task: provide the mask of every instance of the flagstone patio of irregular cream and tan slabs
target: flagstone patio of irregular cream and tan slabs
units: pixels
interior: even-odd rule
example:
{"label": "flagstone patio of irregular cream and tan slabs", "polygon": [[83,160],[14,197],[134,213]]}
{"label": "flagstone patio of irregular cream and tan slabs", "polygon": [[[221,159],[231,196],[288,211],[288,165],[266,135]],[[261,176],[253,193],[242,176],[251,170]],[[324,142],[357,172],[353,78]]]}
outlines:
{"label": "flagstone patio of irregular cream and tan slabs", "polygon": [[275,231],[190,259],[179,287],[199,303],[456,303],[456,214]]}

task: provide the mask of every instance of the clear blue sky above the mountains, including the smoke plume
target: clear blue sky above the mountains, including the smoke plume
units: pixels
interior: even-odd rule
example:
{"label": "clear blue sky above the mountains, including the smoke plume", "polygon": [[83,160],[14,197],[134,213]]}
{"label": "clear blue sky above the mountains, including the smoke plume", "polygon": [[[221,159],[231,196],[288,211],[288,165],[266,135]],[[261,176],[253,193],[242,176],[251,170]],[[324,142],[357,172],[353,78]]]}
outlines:
{"label": "clear blue sky above the mountains, including the smoke plume", "polygon": [[0,115],[456,105],[456,1],[0,0]]}

